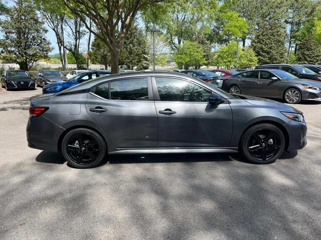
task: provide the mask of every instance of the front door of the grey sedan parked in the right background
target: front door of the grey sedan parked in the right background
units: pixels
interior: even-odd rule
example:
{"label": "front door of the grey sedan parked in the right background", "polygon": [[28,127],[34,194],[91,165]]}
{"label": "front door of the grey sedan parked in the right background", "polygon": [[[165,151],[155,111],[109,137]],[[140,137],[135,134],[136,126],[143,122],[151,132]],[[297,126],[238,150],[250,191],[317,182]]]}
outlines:
{"label": "front door of the grey sedan parked in the right background", "polygon": [[272,77],[277,76],[272,72],[260,70],[259,79],[256,81],[255,96],[280,97],[282,95],[282,80],[278,77],[271,79]]}

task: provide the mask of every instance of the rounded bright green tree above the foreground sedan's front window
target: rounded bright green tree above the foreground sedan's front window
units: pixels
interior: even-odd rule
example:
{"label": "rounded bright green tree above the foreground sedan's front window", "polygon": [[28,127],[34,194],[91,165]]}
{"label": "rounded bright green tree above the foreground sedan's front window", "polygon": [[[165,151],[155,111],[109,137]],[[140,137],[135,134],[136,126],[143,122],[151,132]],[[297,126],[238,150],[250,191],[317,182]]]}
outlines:
{"label": "rounded bright green tree above the foreground sedan's front window", "polygon": [[174,60],[179,66],[184,65],[185,69],[191,66],[198,69],[206,62],[203,48],[195,41],[185,41],[179,46],[178,51],[174,53]]}

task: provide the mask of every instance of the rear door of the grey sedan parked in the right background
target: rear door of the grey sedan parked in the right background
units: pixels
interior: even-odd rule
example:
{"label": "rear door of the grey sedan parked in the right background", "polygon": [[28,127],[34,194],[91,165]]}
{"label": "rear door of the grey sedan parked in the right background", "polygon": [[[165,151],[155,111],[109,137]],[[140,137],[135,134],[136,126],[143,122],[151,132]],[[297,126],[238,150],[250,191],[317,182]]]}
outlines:
{"label": "rear door of the grey sedan parked in the right background", "polygon": [[246,95],[254,95],[256,88],[256,81],[259,78],[259,71],[245,71],[238,75],[237,83],[241,88],[241,92]]}

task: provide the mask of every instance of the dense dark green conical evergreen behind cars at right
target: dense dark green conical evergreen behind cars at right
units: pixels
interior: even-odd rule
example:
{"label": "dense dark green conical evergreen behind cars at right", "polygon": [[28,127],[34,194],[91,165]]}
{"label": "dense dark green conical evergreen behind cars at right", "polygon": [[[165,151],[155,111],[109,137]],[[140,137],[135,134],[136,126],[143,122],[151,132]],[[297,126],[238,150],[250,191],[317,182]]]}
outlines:
{"label": "dense dark green conical evergreen behind cars at right", "polygon": [[259,64],[283,63],[286,58],[285,27],[279,22],[260,23],[252,40]]}

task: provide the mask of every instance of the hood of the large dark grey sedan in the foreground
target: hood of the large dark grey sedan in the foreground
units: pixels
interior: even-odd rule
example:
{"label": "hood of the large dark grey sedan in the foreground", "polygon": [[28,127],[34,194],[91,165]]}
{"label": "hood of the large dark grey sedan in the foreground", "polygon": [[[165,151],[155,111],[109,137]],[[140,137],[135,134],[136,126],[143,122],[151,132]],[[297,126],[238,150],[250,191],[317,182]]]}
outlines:
{"label": "hood of the large dark grey sedan in the foreground", "polygon": [[246,96],[246,95],[238,95],[238,96],[240,96],[245,101],[253,105],[275,108],[275,109],[278,109],[279,111],[284,111],[284,112],[296,112],[296,113],[303,114],[298,109],[292,106],[289,106],[287,104],[284,104],[282,102],[278,102],[278,101],[274,101],[274,100],[270,100],[262,97],[256,97],[256,96]]}

